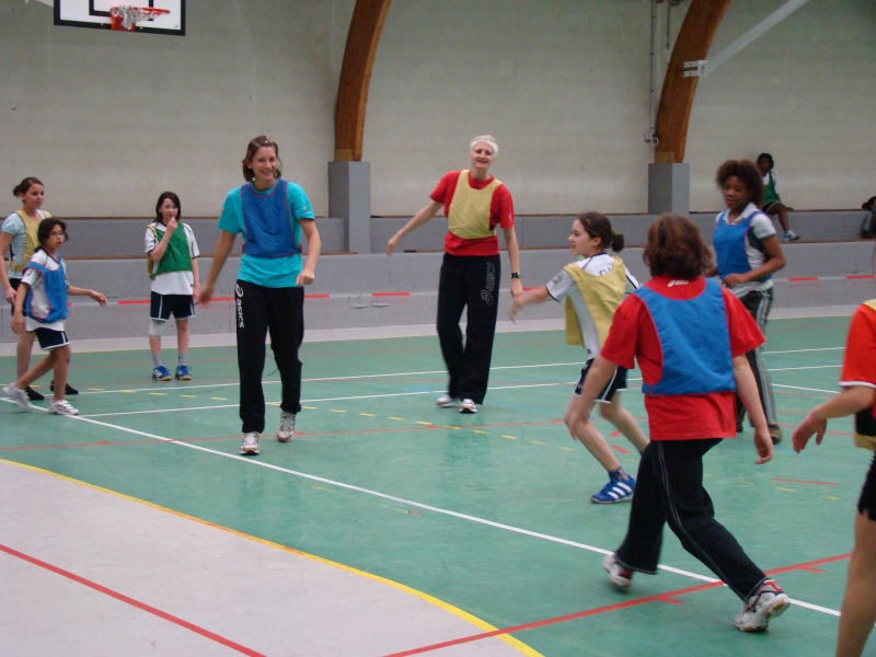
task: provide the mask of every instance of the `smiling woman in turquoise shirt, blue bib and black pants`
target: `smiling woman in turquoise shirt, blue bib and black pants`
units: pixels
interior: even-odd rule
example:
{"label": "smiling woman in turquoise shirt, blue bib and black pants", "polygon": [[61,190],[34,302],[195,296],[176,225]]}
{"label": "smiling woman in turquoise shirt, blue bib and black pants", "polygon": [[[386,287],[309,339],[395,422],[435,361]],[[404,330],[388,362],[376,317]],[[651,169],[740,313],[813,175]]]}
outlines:
{"label": "smiling woman in turquoise shirt, blue bib and black pants", "polygon": [[[234,285],[234,316],[240,370],[240,418],[243,440],[240,453],[260,452],[265,430],[265,336],[280,373],[280,422],[274,437],[289,442],[301,411],[301,361],[298,348],[304,337],[304,290],[315,278],[320,233],[304,191],[285,181],[279,147],[269,137],[256,137],[242,161],[241,187],[228,193],[219,218],[219,241],[212,265],[200,288],[200,301],[212,298],[216,279],[228,260],[234,239],[243,235],[243,255]],[[301,262],[301,239],[308,241]]]}

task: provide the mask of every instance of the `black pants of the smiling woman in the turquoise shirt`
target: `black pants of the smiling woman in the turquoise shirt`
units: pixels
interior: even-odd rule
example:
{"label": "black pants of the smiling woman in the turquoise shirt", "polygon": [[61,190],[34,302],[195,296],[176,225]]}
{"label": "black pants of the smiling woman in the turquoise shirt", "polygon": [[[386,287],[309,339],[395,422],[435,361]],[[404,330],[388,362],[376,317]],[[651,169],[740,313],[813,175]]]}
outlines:
{"label": "black pants of the smiling woman in the turquoise shirt", "polygon": [[265,336],[283,382],[280,408],[301,411],[301,361],[298,347],[304,338],[304,289],[267,288],[238,280],[234,286],[240,370],[240,418],[243,433],[265,430]]}

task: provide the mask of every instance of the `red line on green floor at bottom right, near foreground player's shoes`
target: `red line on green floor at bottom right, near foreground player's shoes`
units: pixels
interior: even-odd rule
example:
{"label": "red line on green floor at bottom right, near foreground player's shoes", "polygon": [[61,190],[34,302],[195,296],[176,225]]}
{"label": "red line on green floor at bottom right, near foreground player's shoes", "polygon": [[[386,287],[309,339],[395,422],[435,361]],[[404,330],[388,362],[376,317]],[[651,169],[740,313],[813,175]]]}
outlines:
{"label": "red line on green floor at bottom right, near foreground player's shoes", "polygon": [[[797,564],[792,566],[785,566],[783,568],[774,568],[772,570],[768,570],[768,575],[776,575],[779,573],[788,573],[791,570],[804,570],[810,573],[820,573],[816,566],[821,564],[828,564],[832,562],[843,561],[849,558],[850,554],[839,554],[837,556],[828,556],[826,558],[816,560],[812,562],[807,562],[804,564]],[[514,625],[511,627],[505,627],[502,630],[493,630],[491,632],[484,632],[481,634],[473,634],[471,636],[462,636],[460,638],[453,638],[450,641],[445,641],[437,644],[431,644],[429,646],[420,646],[418,648],[412,648],[410,650],[404,650],[402,653],[393,653],[392,655],[387,655],[385,657],[408,657],[411,655],[422,655],[424,653],[430,653],[433,650],[440,650],[442,648],[449,648],[466,643],[472,643],[475,641],[481,641],[483,638],[491,638],[493,636],[499,636],[502,634],[516,634],[518,632],[523,632],[526,630],[534,630],[537,627],[544,627],[546,625],[555,625],[557,623],[565,623],[568,621],[575,621],[578,619],[584,619],[591,615],[597,615],[600,613],[608,613],[610,611],[618,611],[621,609],[630,609],[632,607],[639,607],[642,604],[646,604],[648,602],[667,602],[670,604],[678,604],[679,596],[684,596],[688,593],[694,593],[698,591],[703,591],[711,588],[717,588],[719,586],[724,586],[723,581],[710,581],[707,584],[701,584],[698,586],[691,586],[683,589],[677,589],[675,591],[666,591],[664,593],[657,593],[655,596],[647,596],[645,598],[636,598],[635,600],[625,600],[624,602],[618,602],[615,604],[608,604],[606,607],[597,607],[595,609],[586,609],[584,611],[576,611],[574,613],[568,613],[562,616],[554,616],[551,619],[542,619],[540,621],[532,621],[530,623],[522,623],[520,625]]]}

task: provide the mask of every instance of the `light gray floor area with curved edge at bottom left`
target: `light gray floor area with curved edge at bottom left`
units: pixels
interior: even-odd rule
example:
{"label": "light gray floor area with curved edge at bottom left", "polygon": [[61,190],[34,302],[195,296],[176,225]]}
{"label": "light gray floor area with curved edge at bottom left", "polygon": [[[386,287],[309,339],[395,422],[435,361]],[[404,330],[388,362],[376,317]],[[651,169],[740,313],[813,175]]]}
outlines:
{"label": "light gray floor area with curved edge at bottom left", "polygon": [[[0,498],[3,655],[364,657],[488,627],[387,580],[26,466],[0,461]],[[521,655],[496,637],[441,655],[473,645]]]}

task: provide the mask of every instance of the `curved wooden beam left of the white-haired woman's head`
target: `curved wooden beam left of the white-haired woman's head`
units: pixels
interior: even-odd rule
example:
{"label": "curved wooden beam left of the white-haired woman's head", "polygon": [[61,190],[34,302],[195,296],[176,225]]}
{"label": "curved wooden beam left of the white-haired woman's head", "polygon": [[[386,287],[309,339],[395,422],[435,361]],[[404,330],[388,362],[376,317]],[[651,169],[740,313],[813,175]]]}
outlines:
{"label": "curved wooden beam left of the white-haired woman's head", "polygon": [[335,161],[360,162],[368,84],[391,0],[356,0],[335,101]]}

